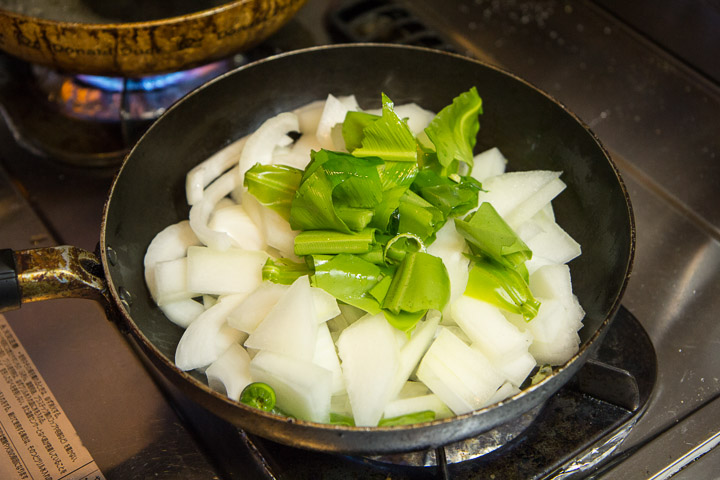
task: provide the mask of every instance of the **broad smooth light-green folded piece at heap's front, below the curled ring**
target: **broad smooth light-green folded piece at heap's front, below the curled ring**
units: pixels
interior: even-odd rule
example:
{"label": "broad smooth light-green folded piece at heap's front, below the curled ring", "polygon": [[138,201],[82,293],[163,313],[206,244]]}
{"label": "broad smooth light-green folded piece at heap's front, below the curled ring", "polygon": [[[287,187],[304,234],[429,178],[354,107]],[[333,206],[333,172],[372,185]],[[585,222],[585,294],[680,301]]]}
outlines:
{"label": "broad smooth light-green folded piece at heap's front, below the curled ring", "polygon": [[394,314],[442,311],[450,299],[450,277],[442,260],[424,252],[409,252],[398,266],[383,301]]}

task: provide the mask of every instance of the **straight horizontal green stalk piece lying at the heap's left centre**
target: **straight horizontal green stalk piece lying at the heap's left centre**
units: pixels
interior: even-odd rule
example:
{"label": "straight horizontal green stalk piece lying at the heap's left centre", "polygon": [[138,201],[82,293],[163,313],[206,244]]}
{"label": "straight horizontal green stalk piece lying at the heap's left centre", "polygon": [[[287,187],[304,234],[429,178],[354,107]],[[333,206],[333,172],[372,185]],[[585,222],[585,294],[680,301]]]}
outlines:
{"label": "straight horizontal green stalk piece lying at the heap's left centre", "polygon": [[306,230],[295,237],[296,255],[367,253],[375,242],[375,230],[357,233]]}

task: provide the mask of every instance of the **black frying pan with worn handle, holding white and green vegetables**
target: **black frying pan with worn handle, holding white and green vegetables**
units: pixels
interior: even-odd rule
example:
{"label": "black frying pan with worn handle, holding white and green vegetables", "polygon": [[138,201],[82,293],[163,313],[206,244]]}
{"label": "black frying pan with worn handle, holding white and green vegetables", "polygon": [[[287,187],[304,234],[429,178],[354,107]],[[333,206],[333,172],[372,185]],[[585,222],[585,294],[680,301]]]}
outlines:
{"label": "black frying pan with worn handle, holding white and green vegetables", "polygon": [[[277,417],[211,391],[202,376],[173,364],[182,331],[155,307],[143,279],[143,256],[155,234],[188,216],[185,174],[265,119],[313,100],[355,94],[379,105],[438,111],[476,86],[484,113],[478,150],[496,146],[515,170],[563,171],[568,187],[554,202],[558,222],[583,247],[571,263],[574,290],[587,315],[579,352],[542,382],[499,404],[416,425],[360,428]],[[288,445],[331,452],[380,453],[432,448],[475,436],[541,405],[600,343],[619,307],[634,256],[634,220],[617,168],[583,123],[529,83],[478,61],[424,48],[390,45],[318,47],[262,60],[189,94],[163,115],[128,154],[106,204],[98,257],[71,247],[15,252],[20,289],[43,298],[54,258],[72,295],[107,298],[118,325],[190,398],[235,425]],[[7,253],[7,252],[6,252]],[[10,263],[8,261],[8,263]],[[67,273],[77,270],[77,274]],[[103,281],[104,277],[106,281]],[[5,290],[12,290],[5,288]],[[58,295],[57,289],[53,295]],[[6,304],[12,303],[12,299]]]}

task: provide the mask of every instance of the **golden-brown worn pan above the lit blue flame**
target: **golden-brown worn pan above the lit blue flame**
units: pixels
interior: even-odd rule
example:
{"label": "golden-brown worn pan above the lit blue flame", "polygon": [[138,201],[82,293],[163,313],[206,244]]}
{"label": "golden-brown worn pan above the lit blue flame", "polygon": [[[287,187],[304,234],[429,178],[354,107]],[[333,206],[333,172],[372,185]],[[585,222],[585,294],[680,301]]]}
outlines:
{"label": "golden-brown worn pan above the lit blue flame", "polygon": [[135,77],[250,48],[306,0],[0,0],[0,49],[74,73]]}

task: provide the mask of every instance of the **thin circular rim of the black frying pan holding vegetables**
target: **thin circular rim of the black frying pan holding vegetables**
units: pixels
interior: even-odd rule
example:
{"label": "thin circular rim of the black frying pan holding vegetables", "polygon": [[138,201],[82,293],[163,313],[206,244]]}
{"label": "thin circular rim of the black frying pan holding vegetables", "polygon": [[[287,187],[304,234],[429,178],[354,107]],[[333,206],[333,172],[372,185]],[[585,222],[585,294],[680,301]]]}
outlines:
{"label": "thin circular rim of the black frying pan holding vegetables", "polygon": [[[583,342],[580,345],[578,352],[576,352],[564,364],[554,367],[553,372],[550,375],[548,375],[546,378],[544,378],[542,381],[538,382],[535,385],[531,385],[531,386],[521,390],[520,392],[516,393],[515,395],[513,395],[511,397],[508,397],[507,399],[505,399],[501,402],[498,402],[498,403],[495,403],[492,405],[488,405],[488,406],[483,407],[478,410],[473,410],[472,412],[452,416],[452,417],[445,418],[445,419],[436,419],[436,420],[432,420],[429,422],[422,422],[422,423],[401,425],[401,426],[392,426],[392,427],[343,426],[343,425],[332,425],[332,424],[310,422],[310,421],[306,421],[306,420],[292,420],[291,423],[293,423],[299,427],[307,427],[307,428],[312,428],[312,429],[324,429],[326,431],[333,431],[333,432],[382,432],[382,431],[399,431],[399,430],[410,431],[410,430],[425,429],[425,428],[435,428],[444,423],[462,422],[462,421],[470,419],[472,417],[483,415],[484,413],[486,413],[492,409],[499,408],[502,405],[505,405],[508,403],[514,403],[516,400],[519,400],[526,395],[530,395],[532,392],[534,392],[538,389],[544,388],[544,385],[548,381],[550,381],[552,378],[559,376],[559,375],[567,374],[568,367],[570,365],[572,365],[573,363],[577,363],[577,362],[584,363],[586,357],[591,353],[591,351],[592,351],[591,349],[593,349],[594,347],[597,346],[598,338],[600,336],[604,335],[604,333],[606,332],[610,323],[612,322],[613,317],[615,316],[615,314],[617,313],[617,310],[620,307],[622,297],[627,288],[627,284],[628,284],[628,281],[630,278],[632,266],[634,263],[634,257],[635,257],[635,241],[636,241],[635,219],[634,219],[634,215],[633,215],[633,209],[632,209],[632,204],[630,201],[630,196],[629,196],[628,190],[625,186],[625,183],[622,180],[620,171],[619,171],[617,165],[615,164],[615,162],[613,161],[611,155],[607,151],[607,149],[604,147],[604,145],[602,144],[600,139],[597,137],[597,135],[574,112],[569,110],[565,106],[565,104],[558,101],[552,95],[550,95],[549,93],[545,92],[544,90],[538,88],[537,86],[533,85],[529,81],[527,81],[527,80],[523,79],[522,77],[519,77],[516,74],[509,72],[506,69],[499,67],[497,65],[492,65],[492,64],[482,61],[482,60],[469,58],[469,57],[461,55],[461,54],[446,52],[446,51],[442,51],[442,50],[436,50],[436,49],[427,48],[427,47],[386,44],[386,43],[355,43],[355,44],[342,44],[342,45],[323,45],[323,46],[315,46],[315,47],[309,47],[309,48],[304,48],[304,49],[299,49],[299,50],[293,50],[290,52],[280,53],[277,55],[273,55],[270,57],[256,60],[256,61],[248,63],[246,65],[242,65],[242,66],[240,66],[234,70],[231,70],[227,73],[224,73],[224,74],[216,77],[215,79],[210,80],[209,82],[205,83],[204,85],[198,87],[197,89],[193,90],[192,92],[188,93],[182,100],[176,102],[172,107],[170,107],[161,116],[161,118],[159,120],[161,120],[162,117],[171,114],[171,112],[173,112],[176,108],[182,108],[182,104],[184,103],[185,99],[190,98],[191,96],[197,95],[199,92],[202,92],[203,90],[208,88],[210,85],[214,84],[215,82],[222,81],[227,76],[235,75],[236,72],[243,71],[243,70],[246,70],[249,68],[253,68],[256,65],[260,65],[260,64],[270,62],[270,61],[275,61],[277,59],[288,57],[288,56],[303,55],[306,53],[313,53],[313,52],[329,50],[329,49],[351,49],[351,48],[394,48],[394,49],[398,49],[398,50],[419,50],[419,51],[425,51],[425,52],[433,53],[433,54],[441,54],[441,55],[448,55],[448,56],[456,57],[458,59],[461,59],[464,61],[470,61],[470,62],[479,64],[485,68],[489,68],[491,70],[495,70],[504,75],[507,75],[507,76],[511,77],[513,80],[519,81],[522,84],[526,85],[527,87],[535,90],[537,93],[545,96],[548,100],[550,100],[551,102],[553,102],[554,104],[559,106],[564,111],[565,114],[570,115],[570,117],[575,122],[577,122],[580,126],[582,126],[583,130],[591,136],[592,140],[600,148],[601,152],[603,153],[603,156],[605,157],[605,159],[611,166],[614,176],[618,181],[618,186],[620,187],[620,191],[625,199],[625,204],[627,206],[627,215],[628,215],[628,219],[629,219],[629,223],[630,223],[629,224],[630,238],[628,239],[629,240],[629,251],[627,252],[628,258],[627,258],[627,262],[623,265],[622,285],[618,289],[618,291],[615,295],[615,298],[612,300],[612,303],[610,305],[609,311],[608,311],[605,319],[600,323],[600,325],[597,327],[595,332],[593,332],[593,334],[585,342]],[[275,414],[272,414],[269,412],[263,412],[263,411],[254,409],[252,407],[249,407],[247,405],[241,404],[239,402],[235,402],[235,401],[229,399],[227,396],[222,395],[222,394],[210,389],[210,387],[206,383],[199,381],[198,379],[196,379],[189,373],[183,372],[180,369],[178,369],[175,366],[175,364],[172,361],[170,361],[170,359],[166,358],[162,353],[157,351],[157,348],[152,344],[152,342],[150,342],[150,340],[143,334],[143,332],[140,331],[140,329],[137,327],[135,322],[132,320],[132,316],[130,315],[130,313],[123,306],[123,302],[121,301],[121,299],[118,295],[117,288],[114,285],[113,277],[112,277],[111,272],[108,267],[109,263],[108,263],[108,257],[107,257],[107,243],[106,243],[108,213],[110,210],[110,205],[112,203],[112,199],[114,197],[115,188],[117,187],[117,184],[118,184],[118,180],[121,177],[122,172],[124,171],[126,165],[129,163],[129,159],[133,158],[133,154],[134,154],[135,150],[138,148],[138,145],[140,145],[143,142],[144,138],[146,136],[152,134],[151,132],[156,124],[157,124],[157,122],[155,124],[153,124],[143,134],[143,136],[140,138],[140,140],[135,144],[135,146],[133,146],[133,148],[126,155],[122,165],[120,166],[120,169],[118,170],[117,175],[115,176],[115,179],[113,180],[110,192],[108,194],[107,201],[105,203],[105,208],[103,210],[103,217],[102,217],[103,220],[102,220],[101,236],[100,236],[100,254],[101,254],[101,260],[102,260],[101,263],[103,264],[103,269],[105,271],[105,275],[106,275],[106,278],[108,281],[108,290],[110,291],[113,301],[116,303],[116,305],[118,306],[118,309],[122,313],[122,316],[125,318],[125,320],[126,320],[125,323],[127,324],[126,326],[130,330],[130,332],[133,334],[135,339],[142,342],[146,346],[146,348],[150,349],[151,351],[153,351],[155,353],[155,355],[154,355],[155,358],[153,358],[153,360],[161,361],[165,367],[174,371],[177,375],[185,378],[186,380],[189,380],[195,387],[199,387],[205,393],[210,394],[211,396],[215,397],[216,400],[220,400],[221,402],[224,402],[225,404],[227,404],[226,406],[231,406],[234,408],[240,407],[240,408],[245,409],[246,411],[249,411],[253,414],[261,415],[266,418],[274,419],[274,420],[277,420],[277,421],[280,421],[283,423],[288,423],[288,419],[286,417],[281,417],[279,415],[275,415]],[[620,273],[618,273],[618,276],[619,275],[620,275]],[[558,389],[561,388],[563,385],[564,385],[564,383],[559,385]]]}

